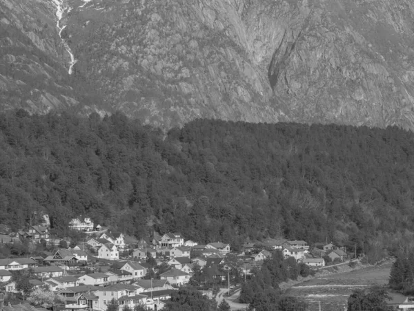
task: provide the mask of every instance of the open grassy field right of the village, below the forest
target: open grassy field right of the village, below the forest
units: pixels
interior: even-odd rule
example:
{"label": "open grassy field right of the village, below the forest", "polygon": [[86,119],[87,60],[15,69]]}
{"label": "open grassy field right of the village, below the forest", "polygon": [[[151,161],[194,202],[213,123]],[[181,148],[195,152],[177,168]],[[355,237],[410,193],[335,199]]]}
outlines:
{"label": "open grassy field right of the village, below the forest", "polygon": [[301,296],[309,304],[309,311],[343,311],[348,296],[356,288],[365,288],[373,284],[386,284],[391,271],[391,262],[375,267],[362,267],[342,273],[325,272],[316,279],[296,284],[288,294]]}

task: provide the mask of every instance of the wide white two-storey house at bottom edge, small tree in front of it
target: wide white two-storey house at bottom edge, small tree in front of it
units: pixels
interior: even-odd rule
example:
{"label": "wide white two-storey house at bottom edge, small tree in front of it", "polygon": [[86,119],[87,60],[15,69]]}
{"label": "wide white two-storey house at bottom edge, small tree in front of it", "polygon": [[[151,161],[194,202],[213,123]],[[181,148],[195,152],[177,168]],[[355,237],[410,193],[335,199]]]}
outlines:
{"label": "wide white two-storey house at bottom edge, small tree in front of it", "polygon": [[106,310],[106,305],[115,299],[119,303],[119,310],[123,310],[125,305],[133,309],[135,305],[145,305],[147,296],[141,295],[138,288],[128,284],[114,284],[100,288],[94,294],[98,297],[99,310]]}

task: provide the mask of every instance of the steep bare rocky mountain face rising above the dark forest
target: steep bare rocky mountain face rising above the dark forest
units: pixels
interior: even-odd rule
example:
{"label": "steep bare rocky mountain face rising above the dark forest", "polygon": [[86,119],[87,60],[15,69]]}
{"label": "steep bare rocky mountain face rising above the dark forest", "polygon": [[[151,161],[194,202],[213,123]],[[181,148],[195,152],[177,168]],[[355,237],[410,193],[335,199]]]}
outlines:
{"label": "steep bare rocky mountain face rising above the dark forest", "polygon": [[414,129],[411,0],[0,0],[0,26],[6,109]]}

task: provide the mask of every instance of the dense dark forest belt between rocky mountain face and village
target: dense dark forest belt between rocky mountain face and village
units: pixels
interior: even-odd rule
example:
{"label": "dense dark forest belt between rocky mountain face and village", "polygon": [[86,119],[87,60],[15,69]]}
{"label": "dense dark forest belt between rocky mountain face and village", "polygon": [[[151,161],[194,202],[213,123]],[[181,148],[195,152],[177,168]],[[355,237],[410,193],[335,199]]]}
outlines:
{"label": "dense dark forest belt between rocky mountain face and village", "polygon": [[414,135],[388,127],[196,120],[167,134],[121,113],[0,115],[0,223],[48,213],[137,237],[333,241],[381,256],[411,241]]}

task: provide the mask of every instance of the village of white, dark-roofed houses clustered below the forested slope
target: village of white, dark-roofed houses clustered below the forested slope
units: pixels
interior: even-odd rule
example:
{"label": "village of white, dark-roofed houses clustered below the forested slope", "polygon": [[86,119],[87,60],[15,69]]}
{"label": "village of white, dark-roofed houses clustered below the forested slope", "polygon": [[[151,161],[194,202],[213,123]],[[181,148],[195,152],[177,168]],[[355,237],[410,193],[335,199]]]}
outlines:
{"label": "village of white, dark-roofed houses clustered below the forested slope", "polygon": [[[105,311],[112,299],[119,310],[126,305],[161,310],[172,292],[188,283],[210,298],[217,294],[217,288],[237,288],[275,250],[313,270],[348,259],[345,249],[332,243],[311,248],[306,241],[268,239],[245,243],[242,251],[233,252],[229,244],[217,241],[200,245],[181,233],[155,233],[136,240],[95,226],[86,217],[73,218],[69,227],[90,237],[73,247],[63,248],[59,243],[55,252],[45,254],[48,256],[0,259],[0,281],[6,297],[24,294],[17,285],[18,273],[28,276],[32,290],[41,288],[59,295],[62,303],[58,310]],[[47,219],[42,225],[19,232],[19,238],[32,243],[52,241]]]}

